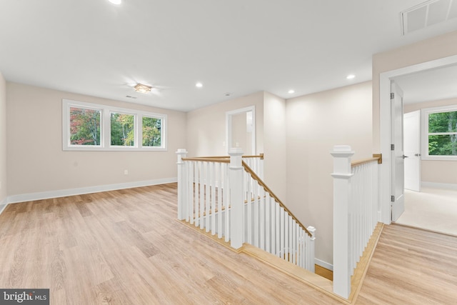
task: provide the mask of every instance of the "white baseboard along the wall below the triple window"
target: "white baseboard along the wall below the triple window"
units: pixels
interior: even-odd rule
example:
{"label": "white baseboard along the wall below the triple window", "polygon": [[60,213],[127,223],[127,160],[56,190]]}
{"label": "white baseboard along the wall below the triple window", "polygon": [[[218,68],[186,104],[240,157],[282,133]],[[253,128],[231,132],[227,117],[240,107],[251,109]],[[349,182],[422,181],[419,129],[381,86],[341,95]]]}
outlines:
{"label": "white baseboard along the wall below the triple window", "polygon": [[101,191],[114,191],[116,189],[131,189],[134,187],[141,187],[141,186],[151,186],[151,185],[157,185],[157,184],[174,183],[176,181],[178,181],[177,178],[166,178],[166,179],[157,179],[157,180],[148,180],[148,181],[128,182],[128,183],[124,183],[124,184],[89,186],[89,187],[83,187],[83,188],[79,188],[79,189],[61,189],[61,190],[57,190],[57,191],[43,191],[43,192],[39,192],[39,193],[9,196],[7,199],[7,203],[14,204],[16,202],[58,198],[58,197],[74,196],[74,195],[81,195],[81,194],[99,193]]}

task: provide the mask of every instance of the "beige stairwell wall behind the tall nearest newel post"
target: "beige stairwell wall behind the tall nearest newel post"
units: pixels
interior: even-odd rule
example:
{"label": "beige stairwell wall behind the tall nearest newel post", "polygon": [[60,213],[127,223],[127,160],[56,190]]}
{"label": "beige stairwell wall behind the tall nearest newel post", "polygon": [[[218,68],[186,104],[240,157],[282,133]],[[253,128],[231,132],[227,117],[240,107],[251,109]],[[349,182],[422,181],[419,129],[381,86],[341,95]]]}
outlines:
{"label": "beige stairwell wall behind the tall nearest newel post", "polygon": [[334,145],[371,157],[371,81],[286,101],[287,206],[316,226],[316,259],[333,264]]}

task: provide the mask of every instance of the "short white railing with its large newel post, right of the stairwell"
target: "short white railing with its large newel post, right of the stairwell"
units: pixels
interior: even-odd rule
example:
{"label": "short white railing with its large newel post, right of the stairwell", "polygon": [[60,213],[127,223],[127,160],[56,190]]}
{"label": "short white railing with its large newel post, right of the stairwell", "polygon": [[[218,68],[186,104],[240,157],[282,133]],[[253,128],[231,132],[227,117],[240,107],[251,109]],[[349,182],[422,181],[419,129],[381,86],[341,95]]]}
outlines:
{"label": "short white railing with its large newel post, right of the stairwell", "polygon": [[351,294],[351,276],[378,224],[380,156],[351,164],[350,146],[334,146],[333,292]]}

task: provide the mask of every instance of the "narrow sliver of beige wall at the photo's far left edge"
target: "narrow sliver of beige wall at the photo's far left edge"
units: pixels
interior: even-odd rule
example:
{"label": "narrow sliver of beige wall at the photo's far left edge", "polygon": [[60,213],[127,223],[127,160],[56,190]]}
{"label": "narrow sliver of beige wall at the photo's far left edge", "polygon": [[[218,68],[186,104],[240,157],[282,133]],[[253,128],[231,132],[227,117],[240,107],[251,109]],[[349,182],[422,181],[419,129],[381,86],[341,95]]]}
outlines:
{"label": "narrow sliver of beige wall at the photo's far left edge", "polygon": [[6,204],[6,81],[0,72],[0,211]]}

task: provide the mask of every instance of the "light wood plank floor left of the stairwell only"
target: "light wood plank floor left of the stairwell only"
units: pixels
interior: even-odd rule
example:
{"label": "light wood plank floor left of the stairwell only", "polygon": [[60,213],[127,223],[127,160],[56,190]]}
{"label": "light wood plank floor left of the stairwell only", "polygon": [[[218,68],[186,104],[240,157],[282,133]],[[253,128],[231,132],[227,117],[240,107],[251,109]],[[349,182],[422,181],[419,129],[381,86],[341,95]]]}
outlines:
{"label": "light wood plank floor left of the stairwell only", "polygon": [[338,304],[176,221],[176,184],[10,204],[0,287],[51,304]]}

